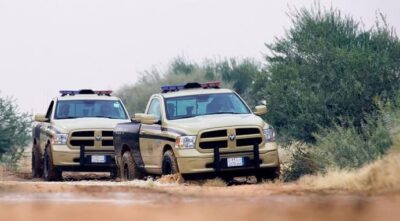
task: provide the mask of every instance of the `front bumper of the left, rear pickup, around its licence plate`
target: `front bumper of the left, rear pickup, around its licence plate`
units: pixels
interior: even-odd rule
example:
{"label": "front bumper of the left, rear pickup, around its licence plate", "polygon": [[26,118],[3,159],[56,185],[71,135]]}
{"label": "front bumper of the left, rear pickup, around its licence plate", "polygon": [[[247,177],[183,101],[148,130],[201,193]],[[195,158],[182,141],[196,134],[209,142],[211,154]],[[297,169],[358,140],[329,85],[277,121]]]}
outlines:
{"label": "front bumper of the left, rear pickup, around its licence plate", "polygon": [[[91,162],[92,156],[104,156],[104,163]],[[114,150],[105,148],[71,149],[67,145],[52,146],[53,164],[62,170],[68,171],[110,171],[115,168]]]}

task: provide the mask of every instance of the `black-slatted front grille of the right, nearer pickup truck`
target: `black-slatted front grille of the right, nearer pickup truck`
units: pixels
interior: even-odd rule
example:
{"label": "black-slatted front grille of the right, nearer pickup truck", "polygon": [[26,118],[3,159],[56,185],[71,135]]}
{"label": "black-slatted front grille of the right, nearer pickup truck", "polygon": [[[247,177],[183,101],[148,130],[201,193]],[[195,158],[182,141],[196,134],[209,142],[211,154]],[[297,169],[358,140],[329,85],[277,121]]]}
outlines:
{"label": "black-slatted front grille of the right, nearer pickup truck", "polygon": [[205,131],[199,137],[201,149],[253,147],[263,142],[263,134],[257,127]]}

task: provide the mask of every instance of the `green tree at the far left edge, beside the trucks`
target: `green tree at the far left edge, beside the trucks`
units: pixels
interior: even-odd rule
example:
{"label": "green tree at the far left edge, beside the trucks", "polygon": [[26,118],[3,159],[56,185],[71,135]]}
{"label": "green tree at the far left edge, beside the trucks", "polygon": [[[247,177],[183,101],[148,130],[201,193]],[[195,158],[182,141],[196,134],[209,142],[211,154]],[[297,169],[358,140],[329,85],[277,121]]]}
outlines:
{"label": "green tree at the far left edge, beside the trucks", "polygon": [[0,161],[15,163],[30,140],[32,120],[20,113],[14,101],[0,97]]}

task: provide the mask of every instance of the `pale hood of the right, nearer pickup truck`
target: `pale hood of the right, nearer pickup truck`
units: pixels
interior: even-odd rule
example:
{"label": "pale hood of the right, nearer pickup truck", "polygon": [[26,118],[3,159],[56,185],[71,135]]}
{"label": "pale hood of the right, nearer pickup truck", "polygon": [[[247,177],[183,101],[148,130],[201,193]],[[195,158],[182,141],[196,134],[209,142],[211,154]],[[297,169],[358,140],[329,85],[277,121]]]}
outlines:
{"label": "pale hood of the right, nearer pickup truck", "polygon": [[169,128],[180,130],[188,135],[196,135],[206,129],[238,126],[264,128],[268,127],[268,124],[254,114],[213,114],[168,122]]}

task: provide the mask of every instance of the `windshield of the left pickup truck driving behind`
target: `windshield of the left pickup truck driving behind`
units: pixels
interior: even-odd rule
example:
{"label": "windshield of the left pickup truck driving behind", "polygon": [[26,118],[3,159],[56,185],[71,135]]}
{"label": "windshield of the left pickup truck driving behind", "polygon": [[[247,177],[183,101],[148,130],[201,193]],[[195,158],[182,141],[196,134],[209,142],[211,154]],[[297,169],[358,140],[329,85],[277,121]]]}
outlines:
{"label": "windshield of the left pickup truck driving behind", "polygon": [[57,102],[55,119],[83,117],[127,119],[125,110],[118,100],[65,100]]}

